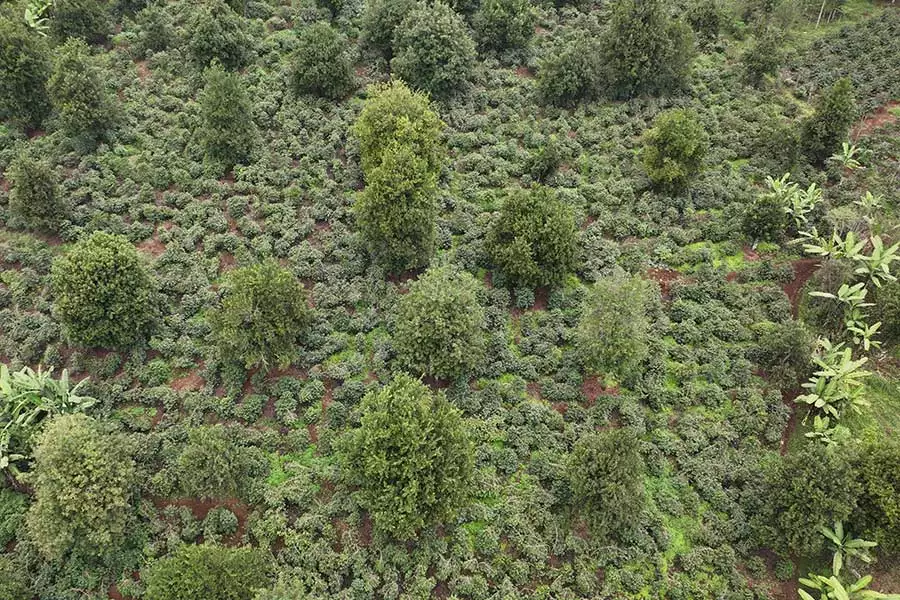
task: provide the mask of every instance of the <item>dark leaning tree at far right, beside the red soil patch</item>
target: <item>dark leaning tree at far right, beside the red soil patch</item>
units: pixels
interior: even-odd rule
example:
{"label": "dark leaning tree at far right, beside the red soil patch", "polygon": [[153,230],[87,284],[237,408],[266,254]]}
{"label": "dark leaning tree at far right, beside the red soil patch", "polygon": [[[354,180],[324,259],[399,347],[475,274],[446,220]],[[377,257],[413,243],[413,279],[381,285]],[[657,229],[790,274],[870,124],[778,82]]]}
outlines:
{"label": "dark leaning tree at far right, beside the red soil patch", "polygon": [[850,125],[856,118],[853,83],[839,79],[815,103],[815,112],[803,121],[801,144],[810,161],[823,164],[847,139]]}

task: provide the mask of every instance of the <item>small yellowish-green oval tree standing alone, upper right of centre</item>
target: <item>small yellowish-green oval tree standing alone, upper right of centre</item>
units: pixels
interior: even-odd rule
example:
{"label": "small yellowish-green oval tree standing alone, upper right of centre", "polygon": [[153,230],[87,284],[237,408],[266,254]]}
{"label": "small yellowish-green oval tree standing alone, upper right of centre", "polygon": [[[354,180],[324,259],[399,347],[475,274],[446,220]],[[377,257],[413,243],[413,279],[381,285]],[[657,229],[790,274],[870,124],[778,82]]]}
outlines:
{"label": "small yellowish-green oval tree standing alone, upper right of centre", "polygon": [[654,185],[682,190],[700,172],[709,136],[690,110],[660,113],[644,133],[644,170]]}

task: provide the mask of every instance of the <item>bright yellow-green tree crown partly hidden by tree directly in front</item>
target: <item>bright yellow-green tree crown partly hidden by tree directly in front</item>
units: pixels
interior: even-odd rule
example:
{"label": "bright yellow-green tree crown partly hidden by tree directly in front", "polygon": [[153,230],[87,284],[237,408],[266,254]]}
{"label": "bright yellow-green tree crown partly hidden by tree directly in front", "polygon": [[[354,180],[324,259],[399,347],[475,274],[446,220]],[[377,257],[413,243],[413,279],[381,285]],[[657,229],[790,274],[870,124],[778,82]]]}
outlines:
{"label": "bright yellow-green tree crown partly hidden by tree directly in front", "polygon": [[436,177],[444,162],[441,132],[445,125],[428,97],[398,80],[367,91],[369,97],[353,126],[363,173],[368,177],[381,164],[385,149],[401,143],[424,160],[427,171]]}

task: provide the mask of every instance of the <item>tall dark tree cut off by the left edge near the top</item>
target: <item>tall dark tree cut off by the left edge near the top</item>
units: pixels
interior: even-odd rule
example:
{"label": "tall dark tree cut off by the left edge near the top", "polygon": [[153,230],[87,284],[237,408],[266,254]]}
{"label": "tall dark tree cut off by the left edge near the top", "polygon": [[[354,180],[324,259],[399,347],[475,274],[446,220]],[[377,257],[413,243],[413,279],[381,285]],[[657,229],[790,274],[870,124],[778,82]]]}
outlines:
{"label": "tall dark tree cut off by the left edge near the top", "polygon": [[49,53],[44,38],[0,17],[0,119],[38,127],[50,112]]}

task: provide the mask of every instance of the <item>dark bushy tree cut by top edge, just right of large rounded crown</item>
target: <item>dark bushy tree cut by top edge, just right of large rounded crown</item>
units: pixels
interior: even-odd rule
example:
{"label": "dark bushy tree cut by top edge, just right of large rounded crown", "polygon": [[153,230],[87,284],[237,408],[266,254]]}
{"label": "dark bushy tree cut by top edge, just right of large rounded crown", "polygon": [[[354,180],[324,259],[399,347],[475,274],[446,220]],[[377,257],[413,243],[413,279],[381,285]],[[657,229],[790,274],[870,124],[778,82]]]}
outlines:
{"label": "dark bushy tree cut by top edge, just right of large rounded crown", "polygon": [[534,35],[534,10],[528,0],[484,0],[472,15],[483,48],[524,48]]}

